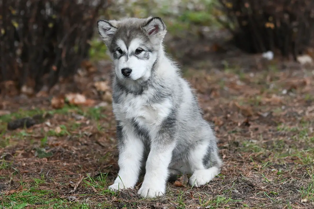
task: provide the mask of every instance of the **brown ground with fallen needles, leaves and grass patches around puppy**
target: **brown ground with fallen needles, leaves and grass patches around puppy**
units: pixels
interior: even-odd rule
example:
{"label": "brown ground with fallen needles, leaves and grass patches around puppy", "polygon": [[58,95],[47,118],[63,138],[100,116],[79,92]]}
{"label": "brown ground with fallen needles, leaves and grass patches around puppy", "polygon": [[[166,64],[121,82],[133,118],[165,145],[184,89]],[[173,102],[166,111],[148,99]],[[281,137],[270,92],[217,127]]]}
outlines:
{"label": "brown ground with fallen needles, leaves and grass patches around puppy", "polygon": [[[204,117],[215,125],[224,161],[208,185],[178,187],[184,177],[157,199],[137,195],[143,178],[135,190],[107,190],[118,153],[110,62],[103,61],[97,72],[83,69],[74,83],[59,83],[48,95],[1,101],[0,208],[314,208],[314,71],[228,62],[223,69],[183,65]],[[58,104],[68,92],[90,103]],[[7,129],[34,115],[32,126]]]}

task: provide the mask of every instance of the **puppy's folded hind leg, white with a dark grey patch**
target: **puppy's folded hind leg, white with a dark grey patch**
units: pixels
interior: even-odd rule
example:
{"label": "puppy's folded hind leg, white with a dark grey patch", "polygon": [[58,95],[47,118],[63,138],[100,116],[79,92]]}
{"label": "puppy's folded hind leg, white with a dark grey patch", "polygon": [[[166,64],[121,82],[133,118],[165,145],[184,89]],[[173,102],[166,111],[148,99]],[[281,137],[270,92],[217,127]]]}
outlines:
{"label": "puppy's folded hind leg, white with a dark grey patch", "polygon": [[203,141],[195,146],[190,152],[189,164],[193,172],[189,180],[192,186],[205,185],[218,175],[222,162],[214,140]]}

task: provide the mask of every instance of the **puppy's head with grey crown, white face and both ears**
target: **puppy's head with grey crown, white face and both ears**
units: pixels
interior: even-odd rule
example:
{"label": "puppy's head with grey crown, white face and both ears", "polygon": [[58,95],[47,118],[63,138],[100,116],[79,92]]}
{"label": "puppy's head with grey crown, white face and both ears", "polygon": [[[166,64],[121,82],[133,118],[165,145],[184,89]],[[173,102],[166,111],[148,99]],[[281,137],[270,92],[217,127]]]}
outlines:
{"label": "puppy's head with grey crown, white face and both ears", "polygon": [[98,31],[120,80],[147,80],[167,32],[159,17],[98,20]]}

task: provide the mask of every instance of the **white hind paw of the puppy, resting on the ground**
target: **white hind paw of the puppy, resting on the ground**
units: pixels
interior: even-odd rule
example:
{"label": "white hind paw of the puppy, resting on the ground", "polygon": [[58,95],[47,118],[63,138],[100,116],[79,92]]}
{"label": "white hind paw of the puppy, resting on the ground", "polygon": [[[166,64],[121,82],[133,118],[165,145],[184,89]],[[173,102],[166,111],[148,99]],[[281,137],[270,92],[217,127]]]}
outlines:
{"label": "white hind paw of the puppy, resting on the ground", "polygon": [[207,184],[219,174],[217,167],[212,167],[204,170],[196,170],[189,180],[191,186],[200,187]]}

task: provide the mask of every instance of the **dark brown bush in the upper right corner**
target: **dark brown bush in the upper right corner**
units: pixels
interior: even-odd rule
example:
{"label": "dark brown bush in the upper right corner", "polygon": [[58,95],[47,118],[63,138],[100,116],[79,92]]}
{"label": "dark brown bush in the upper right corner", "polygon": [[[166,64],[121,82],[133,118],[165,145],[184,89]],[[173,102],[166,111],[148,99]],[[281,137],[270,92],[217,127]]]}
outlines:
{"label": "dark brown bush in the upper right corner", "polygon": [[303,53],[312,45],[313,0],[219,0],[237,47],[260,53],[279,49],[283,56]]}

